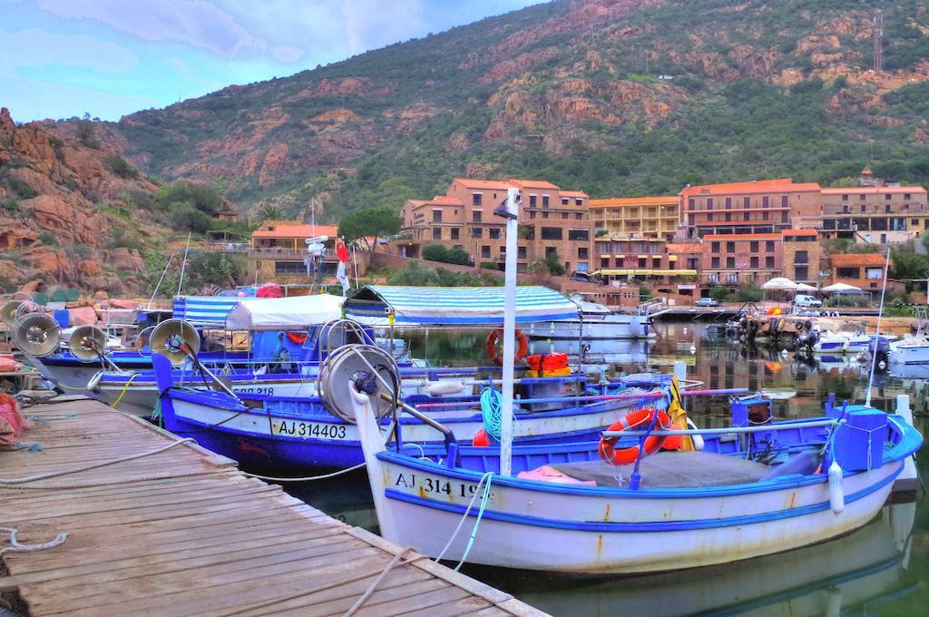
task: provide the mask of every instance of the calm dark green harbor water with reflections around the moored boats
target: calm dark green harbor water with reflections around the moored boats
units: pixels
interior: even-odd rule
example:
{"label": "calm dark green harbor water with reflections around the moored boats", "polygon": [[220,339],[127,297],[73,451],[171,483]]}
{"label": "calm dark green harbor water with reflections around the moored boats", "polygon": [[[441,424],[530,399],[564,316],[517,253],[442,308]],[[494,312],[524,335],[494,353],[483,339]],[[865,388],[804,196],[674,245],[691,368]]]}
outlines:
{"label": "calm dark green harbor water with reflections around the moored boats", "polygon": [[[831,393],[840,402],[861,402],[866,395],[868,367],[852,356],[747,348],[726,338],[715,325],[699,322],[660,323],[656,329],[658,338],[648,344],[595,342],[586,349],[584,369],[609,375],[670,372],[675,362],[683,361],[687,378],[705,387],[764,392],[774,400],[775,414],[781,419],[821,414]],[[487,331],[478,330],[431,331],[406,339],[414,358],[434,365],[474,365],[484,362],[486,335]],[[535,340],[530,352],[576,349],[577,343]],[[577,357],[572,360],[579,361]],[[871,404],[892,411],[898,394],[909,395],[915,423],[925,434],[929,369],[874,375]],[[701,427],[726,426],[729,420],[725,399],[688,399],[687,411]],[[922,478],[929,479],[929,450],[918,454],[917,466]],[[363,472],[293,485],[288,490],[348,524],[377,529]],[[556,615],[925,614],[929,604],[929,505],[918,490],[915,501],[888,504],[870,524],[831,542],[690,571],[606,578],[469,565],[463,571]]]}

